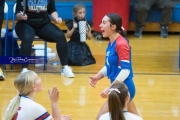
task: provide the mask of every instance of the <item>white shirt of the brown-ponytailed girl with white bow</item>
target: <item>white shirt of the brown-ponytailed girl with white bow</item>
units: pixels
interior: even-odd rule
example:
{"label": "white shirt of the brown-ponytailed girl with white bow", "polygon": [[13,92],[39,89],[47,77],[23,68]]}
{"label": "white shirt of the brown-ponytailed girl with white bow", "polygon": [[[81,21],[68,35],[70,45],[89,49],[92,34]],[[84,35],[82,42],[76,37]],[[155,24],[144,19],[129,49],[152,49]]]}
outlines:
{"label": "white shirt of the brown-ponytailed girl with white bow", "polygon": [[[140,116],[137,116],[130,112],[124,112],[125,120],[143,120]],[[107,112],[100,116],[99,120],[111,120],[110,119],[110,113]]]}

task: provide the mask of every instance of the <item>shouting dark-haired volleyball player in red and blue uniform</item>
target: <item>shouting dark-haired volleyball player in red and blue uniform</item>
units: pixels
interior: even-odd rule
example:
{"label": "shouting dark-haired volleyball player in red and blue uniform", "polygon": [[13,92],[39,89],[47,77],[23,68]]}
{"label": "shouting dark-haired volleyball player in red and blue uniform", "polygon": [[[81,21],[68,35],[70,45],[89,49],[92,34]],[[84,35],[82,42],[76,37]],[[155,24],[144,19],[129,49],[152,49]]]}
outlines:
{"label": "shouting dark-haired volleyball player in red and blue uniform", "polygon": [[[107,14],[103,17],[100,24],[103,37],[109,38],[106,49],[106,61],[104,67],[94,76],[90,76],[90,85],[95,87],[98,80],[107,76],[111,85],[101,92],[101,97],[107,98],[109,88],[112,84],[123,82],[129,89],[131,101],[128,104],[128,111],[138,115],[136,106],[133,102],[135,95],[135,85],[133,82],[133,71],[131,64],[131,48],[128,40],[125,38],[122,28],[122,19],[118,14]],[[107,101],[97,115],[99,117],[108,112]]]}

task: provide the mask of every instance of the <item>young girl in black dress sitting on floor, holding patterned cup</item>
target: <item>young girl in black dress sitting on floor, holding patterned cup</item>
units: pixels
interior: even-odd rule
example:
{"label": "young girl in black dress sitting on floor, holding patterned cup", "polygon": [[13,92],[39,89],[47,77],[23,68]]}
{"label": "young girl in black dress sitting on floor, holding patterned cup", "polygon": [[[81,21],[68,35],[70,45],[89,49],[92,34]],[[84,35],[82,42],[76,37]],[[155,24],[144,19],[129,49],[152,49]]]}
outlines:
{"label": "young girl in black dress sitting on floor, holding patterned cup", "polygon": [[[68,64],[74,66],[85,66],[95,64],[96,60],[92,56],[91,50],[86,42],[80,41],[78,22],[86,21],[86,8],[83,4],[76,4],[73,7],[74,20],[66,20],[68,27],[66,37],[70,38],[68,42]],[[91,27],[86,21],[86,37],[91,39]]]}

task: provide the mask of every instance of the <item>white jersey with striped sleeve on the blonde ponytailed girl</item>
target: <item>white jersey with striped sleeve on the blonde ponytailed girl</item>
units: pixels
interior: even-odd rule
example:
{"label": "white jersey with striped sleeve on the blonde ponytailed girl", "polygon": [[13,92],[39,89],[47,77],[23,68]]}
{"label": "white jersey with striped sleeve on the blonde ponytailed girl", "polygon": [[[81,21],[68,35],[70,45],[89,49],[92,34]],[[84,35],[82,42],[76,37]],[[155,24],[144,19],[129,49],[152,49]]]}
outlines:
{"label": "white jersey with striped sleeve on the blonde ponytailed girl", "polygon": [[52,116],[40,104],[22,96],[15,120],[50,120]]}

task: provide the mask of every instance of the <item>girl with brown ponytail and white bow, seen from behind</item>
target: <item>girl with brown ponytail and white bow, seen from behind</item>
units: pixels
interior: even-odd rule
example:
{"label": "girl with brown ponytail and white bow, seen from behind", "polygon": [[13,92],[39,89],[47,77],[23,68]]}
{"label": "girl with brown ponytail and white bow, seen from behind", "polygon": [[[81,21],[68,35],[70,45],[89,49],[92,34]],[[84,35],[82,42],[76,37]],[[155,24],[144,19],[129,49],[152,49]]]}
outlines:
{"label": "girl with brown ponytail and white bow, seen from behind", "polygon": [[109,112],[101,115],[99,120],[143,120],[138,115],[127,111],[129,100],[127,86],[124,83],[113,84],[109,89]]}

